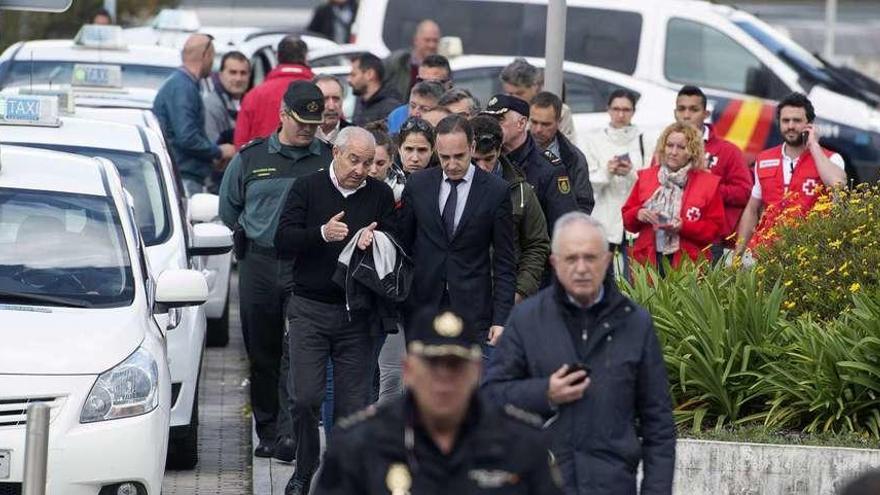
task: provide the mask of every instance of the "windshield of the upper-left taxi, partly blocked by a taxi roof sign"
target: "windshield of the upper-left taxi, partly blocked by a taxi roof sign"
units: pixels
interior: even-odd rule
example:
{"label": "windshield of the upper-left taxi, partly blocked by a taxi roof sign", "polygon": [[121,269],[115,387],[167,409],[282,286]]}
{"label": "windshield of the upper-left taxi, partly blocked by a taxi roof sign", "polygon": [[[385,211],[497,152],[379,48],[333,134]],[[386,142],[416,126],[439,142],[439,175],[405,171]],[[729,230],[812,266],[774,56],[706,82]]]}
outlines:
{"label": "windshield of the upper-left taxi, partly blocked by a taxi roof sign", "polygon": [[[49,60],[13,60],[7,62],[3,75],[3,87],[27,86],[30,84],[70,84],[73,78],[73,66],[77,63],[72,61],[49,61]],[[89,62],[91,64],[91,62]],[[100,64],[96,64],[100,65]],[[150,88],[158,90],[165,79],[174,72],[174,67],[160,67],[155,65],[120,65],[122,68],[122,87],[124,88]]]}

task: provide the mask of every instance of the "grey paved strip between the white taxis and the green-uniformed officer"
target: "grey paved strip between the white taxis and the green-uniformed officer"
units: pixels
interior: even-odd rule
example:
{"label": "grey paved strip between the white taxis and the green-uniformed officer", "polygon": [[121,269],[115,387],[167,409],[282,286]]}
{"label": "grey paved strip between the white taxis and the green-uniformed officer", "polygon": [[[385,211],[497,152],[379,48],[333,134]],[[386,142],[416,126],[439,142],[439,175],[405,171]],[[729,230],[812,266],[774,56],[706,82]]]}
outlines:
{"label": "grey paved strip between the white taxis and the green-uniformed officer", "polygon": [[238,277],[233,274],[229,345],[210,348],[202,363],[199,393],[199,464],[167,471],[164,495],[249,495],[250,414],[246,409],[247,359],[238,316]]}

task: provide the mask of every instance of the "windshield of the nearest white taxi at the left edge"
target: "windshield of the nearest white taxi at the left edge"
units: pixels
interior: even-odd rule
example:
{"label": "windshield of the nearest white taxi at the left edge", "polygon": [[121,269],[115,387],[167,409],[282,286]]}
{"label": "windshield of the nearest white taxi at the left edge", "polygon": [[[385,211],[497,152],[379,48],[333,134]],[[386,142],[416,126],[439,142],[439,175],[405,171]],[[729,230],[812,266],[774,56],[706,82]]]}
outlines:
{"label": "windshield of the nearest white taxi at the left edge", "polygon": [[108,198],[0,188],[0,303],[125,306],[133,280]]}

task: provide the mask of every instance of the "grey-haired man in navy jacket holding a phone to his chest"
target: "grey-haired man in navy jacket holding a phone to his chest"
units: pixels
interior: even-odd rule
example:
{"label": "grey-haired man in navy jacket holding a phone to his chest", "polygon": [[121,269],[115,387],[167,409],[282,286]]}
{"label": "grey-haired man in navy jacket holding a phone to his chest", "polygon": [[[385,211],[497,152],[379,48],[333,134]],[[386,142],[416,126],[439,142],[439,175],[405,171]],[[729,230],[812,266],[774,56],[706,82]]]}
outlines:
{"label": "grey-haired man in navy jacket holding a phone to his chest", "polygon": [[[557,282],[514,307],[483,384],[497,404],[540,414],[570,495],[669,495],[675,425],[651,315],[607,278],[602,225],[554,227]],[[604,281],[604,283],[603,283]]]}

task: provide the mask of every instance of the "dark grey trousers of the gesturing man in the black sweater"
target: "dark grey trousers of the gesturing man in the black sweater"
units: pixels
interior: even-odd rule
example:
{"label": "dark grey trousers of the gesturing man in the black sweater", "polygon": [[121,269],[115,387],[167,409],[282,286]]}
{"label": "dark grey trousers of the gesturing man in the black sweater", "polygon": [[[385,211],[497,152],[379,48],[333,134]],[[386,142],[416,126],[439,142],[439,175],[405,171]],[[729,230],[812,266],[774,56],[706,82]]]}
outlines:
{"label": "dark grey trousers of the gesturing man in the black sweater", "polygon": [[349,314],[344,304],[327,304],[296,295],[287,306],[293,424],[297,439],[294,478],[306,483],[320,461],[318,418],[327,381],[327,359],[333,362],[336,418],[369,404],[373,388],[373,346],[369,314]]}

